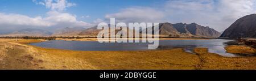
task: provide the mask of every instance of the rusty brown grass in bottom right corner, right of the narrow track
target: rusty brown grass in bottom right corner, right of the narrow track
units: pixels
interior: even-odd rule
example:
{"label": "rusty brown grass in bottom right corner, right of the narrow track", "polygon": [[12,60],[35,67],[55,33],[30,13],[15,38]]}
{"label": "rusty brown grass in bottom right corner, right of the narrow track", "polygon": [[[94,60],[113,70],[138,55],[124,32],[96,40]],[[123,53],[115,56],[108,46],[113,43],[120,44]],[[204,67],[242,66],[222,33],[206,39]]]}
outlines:
{"label": "rusty brown grass in bottom right corner, right of the narrow track", "polygon": [[208,53],[206,48],[197,48],[195,53],[200,58],[199,69],[217,70],[248,70],[256,69],[256,57],[221,57],[218,54]]}

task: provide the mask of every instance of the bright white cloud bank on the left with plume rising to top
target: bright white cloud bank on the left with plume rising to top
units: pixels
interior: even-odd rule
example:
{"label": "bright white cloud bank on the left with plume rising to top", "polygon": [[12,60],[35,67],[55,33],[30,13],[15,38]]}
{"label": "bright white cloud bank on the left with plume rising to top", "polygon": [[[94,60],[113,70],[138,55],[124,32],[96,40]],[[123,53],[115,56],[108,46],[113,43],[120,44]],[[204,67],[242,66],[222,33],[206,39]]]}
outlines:
{"label": "bright white cloud bank on the left with plume rising to top", "polygon": [[[46,13],[46,16],[36,17],[21,14],[4,14],[0,12],[0,30],[5,30],[0,31],[0,33],[9,33],[24,28],[44,28],[54,31],[58,28],[89,28],[96,25],[96,23],[86,23],[77,20],[76,15],[62,11],[67,7],[75,6],[75,3],[68,3],[65,0],[44,0],[44,2],[33,0],[33,2],[37,5],[44,5],[51,8],[51,10]],[[85,17],[89,18],[89,15],[86,15]]]}

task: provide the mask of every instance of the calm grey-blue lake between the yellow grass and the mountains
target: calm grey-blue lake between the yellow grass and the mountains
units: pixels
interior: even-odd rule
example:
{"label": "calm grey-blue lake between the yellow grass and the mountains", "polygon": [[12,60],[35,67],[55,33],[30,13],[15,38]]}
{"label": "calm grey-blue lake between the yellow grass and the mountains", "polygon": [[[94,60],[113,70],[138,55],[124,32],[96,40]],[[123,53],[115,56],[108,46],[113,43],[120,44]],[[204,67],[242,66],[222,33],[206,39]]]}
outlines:
{"label": "calm grey-blue lake between the yellow grass and the mountains", "polygon": [[[208,48],[209,53],[217,53],[225,57],[236,57],[236,54],[226,53],[226,44],[233,40],[210,39],[210,40],[159,40],[160,49],[184,48],[186,52],[193,53],[194,48]],[[99,43],[98,41],[64,41],[53,40],[30,45],[43,48],[83,50],[83,51],[114,51],[114,50],[152,50],[148,49],[148,43]]]}

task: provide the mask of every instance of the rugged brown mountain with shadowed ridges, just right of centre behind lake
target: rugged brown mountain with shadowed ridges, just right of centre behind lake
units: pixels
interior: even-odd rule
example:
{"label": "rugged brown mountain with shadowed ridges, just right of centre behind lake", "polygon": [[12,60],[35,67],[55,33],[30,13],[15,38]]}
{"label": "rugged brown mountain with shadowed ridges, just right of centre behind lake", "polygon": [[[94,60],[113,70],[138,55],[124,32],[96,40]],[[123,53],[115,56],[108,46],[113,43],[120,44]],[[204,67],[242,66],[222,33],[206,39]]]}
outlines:
{"label": "rugged brown mountain with shadowed ridges, just right of centre behind lake", "polygon": [[159,35],[162,37],[218,37],[220,32],[196,23],[160,23]]}

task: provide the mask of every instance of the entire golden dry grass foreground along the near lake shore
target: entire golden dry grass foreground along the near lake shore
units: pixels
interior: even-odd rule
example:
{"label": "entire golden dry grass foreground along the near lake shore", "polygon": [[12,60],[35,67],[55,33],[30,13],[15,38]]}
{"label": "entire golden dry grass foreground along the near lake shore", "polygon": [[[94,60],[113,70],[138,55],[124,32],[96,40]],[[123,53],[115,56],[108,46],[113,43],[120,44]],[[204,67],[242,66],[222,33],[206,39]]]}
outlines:
{"label": "entire golden dry grass foreground along the near lake shore", "polygon": [[221,57],[205,48],[73,51],[27,45],[44,40],[0,39],[0,69],[256,69],[256,57]]}

